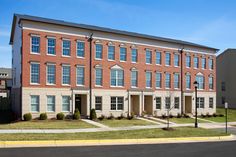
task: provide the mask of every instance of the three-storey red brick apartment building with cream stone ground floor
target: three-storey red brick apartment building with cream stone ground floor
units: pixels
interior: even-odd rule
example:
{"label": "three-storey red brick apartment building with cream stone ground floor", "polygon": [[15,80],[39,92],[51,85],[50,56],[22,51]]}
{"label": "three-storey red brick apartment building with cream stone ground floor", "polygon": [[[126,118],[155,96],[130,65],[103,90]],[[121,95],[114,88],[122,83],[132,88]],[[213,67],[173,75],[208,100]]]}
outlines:
{"label": "three-storey red brick apartment building with cream stone ground floor", "polygon": [[215,48],[65,21],[14,15],[13,109],[119,116],[216,110]]}

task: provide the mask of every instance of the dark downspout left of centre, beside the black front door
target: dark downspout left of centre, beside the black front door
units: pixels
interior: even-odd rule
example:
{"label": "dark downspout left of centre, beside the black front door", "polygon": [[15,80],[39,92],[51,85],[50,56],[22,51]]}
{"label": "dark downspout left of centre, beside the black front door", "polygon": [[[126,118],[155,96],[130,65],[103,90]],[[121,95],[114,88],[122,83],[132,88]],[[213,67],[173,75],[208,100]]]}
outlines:
{"label": "dark downspout left of centre, beside the black front door", "polygon": [[93,33],[89,36],[89,116],[92,110],[92,41],[93,41]]}

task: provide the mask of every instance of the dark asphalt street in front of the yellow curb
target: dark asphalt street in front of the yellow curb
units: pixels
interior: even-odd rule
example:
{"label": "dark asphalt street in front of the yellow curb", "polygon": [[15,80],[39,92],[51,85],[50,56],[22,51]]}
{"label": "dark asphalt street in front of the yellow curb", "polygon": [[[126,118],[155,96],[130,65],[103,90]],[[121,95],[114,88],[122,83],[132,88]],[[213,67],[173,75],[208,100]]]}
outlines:
{"label": "dark asphalt street in front of the yellow curb", "polygon": [[4,148],[0,157],[235,157],[236,141],[150,145]]}

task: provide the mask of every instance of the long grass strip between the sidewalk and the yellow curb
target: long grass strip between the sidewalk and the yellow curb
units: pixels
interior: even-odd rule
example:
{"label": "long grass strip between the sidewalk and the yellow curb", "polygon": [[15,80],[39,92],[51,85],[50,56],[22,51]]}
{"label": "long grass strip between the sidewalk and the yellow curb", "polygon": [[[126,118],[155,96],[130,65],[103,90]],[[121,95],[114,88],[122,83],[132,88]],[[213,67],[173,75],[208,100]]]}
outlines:
{"label": "long grass strip between the sidewalk and the yellow curb", "polygon": [[107,131],[88,133],[64,134],[0,134],[1,141],[17,140],[93,140],[93,139],[141,139],[141,138],[167,138],[167,137],[209,137],[224,136],[225,133],[215,130],[181,127],[173,131],[162,129],[143,129],[129,131]]}

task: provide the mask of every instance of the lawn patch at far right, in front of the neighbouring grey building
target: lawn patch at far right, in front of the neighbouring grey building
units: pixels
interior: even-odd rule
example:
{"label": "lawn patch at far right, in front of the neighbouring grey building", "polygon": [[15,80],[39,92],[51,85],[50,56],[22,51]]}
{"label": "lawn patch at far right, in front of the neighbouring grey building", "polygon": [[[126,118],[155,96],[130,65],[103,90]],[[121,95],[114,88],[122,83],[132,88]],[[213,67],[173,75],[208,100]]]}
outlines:
{"label": "lawn patch at far right, in front of the neighbouring grey building", "polygon": [[[225,115],[225,109],[217,108],[216,113]],[[225,122],[225,117],[209,117],[209,118],[206,117],[203,119],[214,121],[214,122]],[[228,121],[236,122],[236,109],[228,109]]]}

